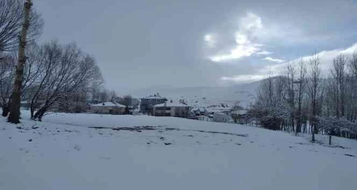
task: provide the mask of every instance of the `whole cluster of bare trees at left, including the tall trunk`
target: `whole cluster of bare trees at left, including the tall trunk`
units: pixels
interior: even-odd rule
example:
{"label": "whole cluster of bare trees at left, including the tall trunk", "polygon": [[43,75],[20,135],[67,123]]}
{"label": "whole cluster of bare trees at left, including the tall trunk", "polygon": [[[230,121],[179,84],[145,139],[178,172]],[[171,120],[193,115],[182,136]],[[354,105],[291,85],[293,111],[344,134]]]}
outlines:
{"label": "whole cluster of bare trees at left, including the tall trunk", "polygon": [[74,43],[37,45],[42,28],[31,0],[0,0],[0,107],[9,122],[19,122],[21,101],[41,120],[53,109],[81,111],[103,88],[94,58]]}

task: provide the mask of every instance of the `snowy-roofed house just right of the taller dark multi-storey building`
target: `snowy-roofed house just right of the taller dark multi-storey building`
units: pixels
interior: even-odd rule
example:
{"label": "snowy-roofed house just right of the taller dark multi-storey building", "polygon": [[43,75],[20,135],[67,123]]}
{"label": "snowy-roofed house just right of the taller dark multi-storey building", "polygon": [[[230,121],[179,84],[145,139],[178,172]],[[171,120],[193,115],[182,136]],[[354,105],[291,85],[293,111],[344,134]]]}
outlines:
{"label": "snowy-roofed house just right of the taller dark multi-storey building", "polygon": [[188,117],[190,106],[179,103],[166,102],[153,106],[154,116]]}

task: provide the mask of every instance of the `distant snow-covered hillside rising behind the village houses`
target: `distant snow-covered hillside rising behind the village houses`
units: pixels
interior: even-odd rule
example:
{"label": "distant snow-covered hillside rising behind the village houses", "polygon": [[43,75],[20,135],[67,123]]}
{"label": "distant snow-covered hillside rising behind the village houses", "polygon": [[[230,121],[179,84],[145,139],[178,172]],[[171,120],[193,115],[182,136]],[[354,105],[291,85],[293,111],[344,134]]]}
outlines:
{"label": "distant snow-covered hillside rising behind the village houses", "polygon": [[246,107],[254,101],[260,82],[237,84],[228,87],[150,87],[132,92],[134,97],[146,97],[159,92],[168,99],[187,100],[189,105],[211,106],[218,104],[239,105]]}

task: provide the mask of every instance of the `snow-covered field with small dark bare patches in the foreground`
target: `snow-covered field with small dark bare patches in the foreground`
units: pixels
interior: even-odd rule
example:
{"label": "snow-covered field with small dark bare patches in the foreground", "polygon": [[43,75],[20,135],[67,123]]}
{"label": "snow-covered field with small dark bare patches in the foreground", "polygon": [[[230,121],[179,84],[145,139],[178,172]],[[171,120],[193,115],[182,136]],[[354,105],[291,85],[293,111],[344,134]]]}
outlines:
{"label": "snow-covered field with small dark bare patches in the foreground", "polygon": [[0,118],[0,190],[356,188],[356,140],[334,137],[343,148],[328,147],[174,117],[56,113],[34,122],[22,112],[21,125]]}

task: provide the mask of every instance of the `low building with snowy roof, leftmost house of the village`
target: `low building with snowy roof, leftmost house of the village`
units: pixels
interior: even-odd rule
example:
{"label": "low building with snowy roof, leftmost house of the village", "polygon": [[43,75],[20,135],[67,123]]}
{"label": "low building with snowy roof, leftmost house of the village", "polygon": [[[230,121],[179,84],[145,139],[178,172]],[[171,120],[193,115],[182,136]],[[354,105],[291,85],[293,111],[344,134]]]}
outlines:
{"label": "low building with snowy roof, leftmost house of the village", "polygon": [[98,114],[122,115],[125,112],[125,106],[113,102],[104,102],[100,104],[91,105],[90,112]]}

